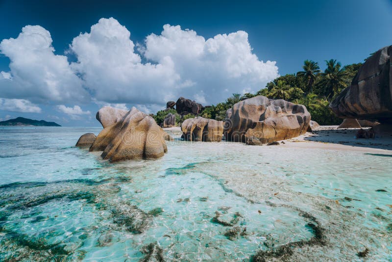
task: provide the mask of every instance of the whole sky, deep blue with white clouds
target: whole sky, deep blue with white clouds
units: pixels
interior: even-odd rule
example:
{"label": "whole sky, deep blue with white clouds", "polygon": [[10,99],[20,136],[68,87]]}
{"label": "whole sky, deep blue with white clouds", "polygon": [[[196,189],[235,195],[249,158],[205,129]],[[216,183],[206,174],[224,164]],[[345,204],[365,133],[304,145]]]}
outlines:
{"label": "whole sky, deep blue with white clouds", "polygon": [[[0,118],[98,126],[106,104],[156,112],[179,95],[216,104],[299,71],[305,59],[322,69],[331,58],[361,62],[392,44],[391,21],[389,0],[0,0],[0,41],[17,39],[0,46]],[[27,25],[40,27],[18,38]]]}

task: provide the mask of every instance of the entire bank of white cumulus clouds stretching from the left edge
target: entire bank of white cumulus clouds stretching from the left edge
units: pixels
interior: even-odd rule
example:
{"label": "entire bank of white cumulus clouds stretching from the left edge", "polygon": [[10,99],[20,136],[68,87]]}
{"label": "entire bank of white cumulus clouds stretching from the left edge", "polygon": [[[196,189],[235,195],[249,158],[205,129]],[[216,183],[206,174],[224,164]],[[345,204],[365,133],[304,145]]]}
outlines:
{"label": "entire bank of white cumulus clouds stretching from the left edge", "polygon": [[0,97],[30,107],[54,104],[72,115],[88,111],[66,104],[129,104],[153,112],[179,96],[216,104],[232,93],[257,91],[278,76],[276,62],[252,52],[245,31],[205,39],[165,25],[160,35],[149,34],[135,46],[130,31],[114,18],[102,18],[73,38],[67,51],[77,58],[73,63],[54,53],[42,26],[25,26],[17,38],[3,39],[0,52],[11,61],[10,71],[0,72]]}

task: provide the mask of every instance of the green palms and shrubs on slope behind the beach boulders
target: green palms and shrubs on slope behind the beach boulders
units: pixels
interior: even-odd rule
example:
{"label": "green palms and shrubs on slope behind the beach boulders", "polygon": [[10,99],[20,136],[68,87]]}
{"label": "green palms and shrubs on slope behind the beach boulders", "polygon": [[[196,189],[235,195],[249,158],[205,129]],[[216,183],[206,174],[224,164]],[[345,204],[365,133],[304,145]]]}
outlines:
{"label": "green palms and shrubs on slope behind the beach boulders", "polygon": [[[227,109],[234,104],[255,96],[266,96],[270,99],[284,99],[295,104],[305,105],[312,115],[312,120],[320,125],[338,125],[342,120],[333,114],[329,103],[350,84],[362,63],[342,67],[341,63],[335,59],[325,62],[327,67],[324,72],[321,72],[317,62],[305,60],[302,66],[303,71],[280,76],[267,83],[255,94],[245,93],[241,96],[235,93],[223,103],[205,107],[199,115],[205,118],[224,120]],[[156,122],[162,123],[169,112],[175,113],[175,110],[157,112],[154,116]],[[188,114],[183,116],[181,121],[193,117],[194,115]],[[178,123],[181,124],[181,121]]]}

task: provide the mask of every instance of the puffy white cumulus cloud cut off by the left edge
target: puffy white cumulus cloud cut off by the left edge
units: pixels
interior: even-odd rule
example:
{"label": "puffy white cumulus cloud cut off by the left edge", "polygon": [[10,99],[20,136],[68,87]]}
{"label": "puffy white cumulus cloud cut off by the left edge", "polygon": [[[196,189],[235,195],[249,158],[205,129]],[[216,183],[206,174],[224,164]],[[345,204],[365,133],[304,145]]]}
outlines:
{"label": "puffy white cumulus cloud cut off by the left edge", "polygon": [[25,26],[17,38],[0,42],[0,53],[11,60],[10,72],[1,72],[1,97],[42,102],[83,100],[88,95],[67,57],[55,55],[51,44],[42,26]]}

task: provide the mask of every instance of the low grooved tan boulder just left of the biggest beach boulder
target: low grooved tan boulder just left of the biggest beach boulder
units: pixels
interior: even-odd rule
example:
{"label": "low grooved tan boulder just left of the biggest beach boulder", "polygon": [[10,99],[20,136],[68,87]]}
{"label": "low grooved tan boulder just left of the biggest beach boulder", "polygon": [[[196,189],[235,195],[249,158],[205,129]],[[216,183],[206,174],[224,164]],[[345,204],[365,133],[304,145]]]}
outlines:
{"label": "low grooved tan boulder just left of the biggest beach boulder", "polygon": [[223,121],[195,117],[182,122],[181,131],[187,141],[221,142]]}

